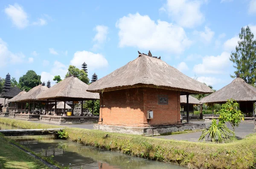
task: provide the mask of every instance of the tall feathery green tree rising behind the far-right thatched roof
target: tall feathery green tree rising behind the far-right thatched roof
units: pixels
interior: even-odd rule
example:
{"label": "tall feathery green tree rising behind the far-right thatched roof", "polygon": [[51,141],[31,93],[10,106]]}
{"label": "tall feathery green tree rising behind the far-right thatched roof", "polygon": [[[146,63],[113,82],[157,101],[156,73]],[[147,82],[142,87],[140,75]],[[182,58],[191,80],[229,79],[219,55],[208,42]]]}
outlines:
{"label": "tall feathery green tree rising behind the far-right thatched roof", "polygon": [[[230,60],[235,64],[235,74],[244,79],[246,83],[255,86],[256,80],[256,40],[253,39],[253,33],[249,26],[241,28],[239,33],[240,40],[236,51],[230,55]],[[235,75],[230,75],[235,78]]]}

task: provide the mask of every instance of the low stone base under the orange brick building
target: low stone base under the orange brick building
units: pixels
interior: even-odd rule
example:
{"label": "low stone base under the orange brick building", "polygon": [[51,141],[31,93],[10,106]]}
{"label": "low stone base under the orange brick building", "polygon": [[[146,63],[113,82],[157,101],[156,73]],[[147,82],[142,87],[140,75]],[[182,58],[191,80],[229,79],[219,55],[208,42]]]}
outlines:
{"label": "low stone base under the orange brick building", "polygon": [[106,132],[116,132],[116,133],[126,133],[134,135],[164,135],[171,134],[173,132],[184,132],[192,130],[205,129],[205,124],[182,124],[182,125],[163,125],[163,126],[152,126],[152,127],[128,127],[128,126],[112,126],[112,125],[94,125],[94,129],[106,131]]}

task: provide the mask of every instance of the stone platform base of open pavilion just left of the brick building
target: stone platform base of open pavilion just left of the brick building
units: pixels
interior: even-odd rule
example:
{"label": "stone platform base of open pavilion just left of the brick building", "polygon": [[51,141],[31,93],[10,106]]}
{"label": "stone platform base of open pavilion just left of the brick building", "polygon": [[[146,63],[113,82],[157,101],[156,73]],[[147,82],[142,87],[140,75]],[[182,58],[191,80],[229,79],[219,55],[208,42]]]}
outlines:
{"label": "stone platform base of open pavilion just left of the brick building", "polygon": [[59,115],[40,115],[40,121],[53,124],[81,124],[96,123],[98,116],[59,116]]}

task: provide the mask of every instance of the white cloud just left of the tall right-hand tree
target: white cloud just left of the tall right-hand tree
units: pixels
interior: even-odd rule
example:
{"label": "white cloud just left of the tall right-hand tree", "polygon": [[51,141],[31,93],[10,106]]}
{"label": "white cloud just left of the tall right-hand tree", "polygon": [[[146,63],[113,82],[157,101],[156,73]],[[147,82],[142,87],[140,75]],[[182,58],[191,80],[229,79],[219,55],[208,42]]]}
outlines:
{"label": "white cloud just left of the tall right-hand tree", "polygon": [[197,74],[222,74],[232,63],[229,60],[230,53],[222,52],[218,56],[205,56],[202,63],[195,65],[193,71]]}

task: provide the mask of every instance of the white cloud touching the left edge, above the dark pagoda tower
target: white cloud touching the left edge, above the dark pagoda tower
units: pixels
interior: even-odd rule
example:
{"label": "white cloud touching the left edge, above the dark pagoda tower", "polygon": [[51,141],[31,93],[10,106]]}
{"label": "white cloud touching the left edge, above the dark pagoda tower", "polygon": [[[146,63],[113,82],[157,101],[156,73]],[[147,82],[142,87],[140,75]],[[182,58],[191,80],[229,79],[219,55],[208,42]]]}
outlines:
{"label": "white cloud touching the left edge, above the dark pagoda tower", "polygon": [[0,38],[1,66],[6,66],[7,64],[23,63],[24,58],[25,55],[22,52],[14,54],[11,51],[9,51],[7,43]]}

